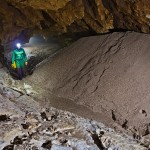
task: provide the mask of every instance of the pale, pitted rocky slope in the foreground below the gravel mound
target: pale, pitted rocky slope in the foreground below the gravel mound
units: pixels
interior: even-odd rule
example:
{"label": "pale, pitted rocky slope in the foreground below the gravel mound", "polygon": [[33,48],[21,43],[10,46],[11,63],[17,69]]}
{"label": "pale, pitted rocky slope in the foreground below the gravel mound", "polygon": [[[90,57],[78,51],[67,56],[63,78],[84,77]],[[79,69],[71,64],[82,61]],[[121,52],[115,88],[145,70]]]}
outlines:
{"label": "pale, pitted rocky slope in the foreground below the gravel mound", "polygon": [[[147,149],[132,137],[102,123],[41,106],[31,85],[14,81],[5,68],[0,71],[1,150]],[[32,94],[27,93],[28,87]]]}

